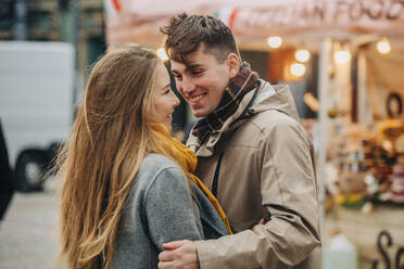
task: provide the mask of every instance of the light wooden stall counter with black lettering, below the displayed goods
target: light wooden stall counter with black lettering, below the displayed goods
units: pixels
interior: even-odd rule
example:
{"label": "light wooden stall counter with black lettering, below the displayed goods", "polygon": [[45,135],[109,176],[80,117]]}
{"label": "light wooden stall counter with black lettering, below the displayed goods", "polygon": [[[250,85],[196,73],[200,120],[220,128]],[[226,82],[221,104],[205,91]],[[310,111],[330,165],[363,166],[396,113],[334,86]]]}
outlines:
{"label": "light wooden stall counter with black lettering, below the displayed goods", "polygon": [[333,206],[325,218],[325,242],[336,231],[356,246],[361,269],[404,268],[404,207],[378,205],[371,213]]}

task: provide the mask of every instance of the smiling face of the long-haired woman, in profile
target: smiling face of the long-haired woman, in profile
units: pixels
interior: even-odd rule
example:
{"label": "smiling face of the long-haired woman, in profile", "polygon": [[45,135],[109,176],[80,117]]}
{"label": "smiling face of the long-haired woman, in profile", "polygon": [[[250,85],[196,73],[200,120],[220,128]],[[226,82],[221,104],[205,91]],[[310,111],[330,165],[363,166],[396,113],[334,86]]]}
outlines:
{"label": "smiling face of the long-haired woman, in profile", "polygon": [[172,130],[173,112],[179,105],[179,99],[173,92],[168,72],[163,63],[157,66],[157,76],[153,89],[153,111],[150,120],[157,124],[164,124],[168,130]]}

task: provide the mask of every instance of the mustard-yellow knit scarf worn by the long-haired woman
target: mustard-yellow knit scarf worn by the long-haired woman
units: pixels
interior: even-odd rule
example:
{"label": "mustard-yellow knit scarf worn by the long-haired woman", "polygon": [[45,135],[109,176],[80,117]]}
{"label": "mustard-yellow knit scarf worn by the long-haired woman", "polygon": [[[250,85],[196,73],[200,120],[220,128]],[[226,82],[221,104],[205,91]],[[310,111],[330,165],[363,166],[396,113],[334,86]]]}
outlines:
{"label": "mustard-yellow knit scarf worn by the long-haired woman", "polygon": [[172,138],[167,128],[162,124],[150,124],[153,133],[157,138],[159,148],[153,149],[156,153],[168,155],[177,162],[177,164],[184,169],[186,175],[192,179],[192,181],[206,194],[212,205],[216,208],[218,215],[220,216],[223,222],[225,223],[227,231],[231,234],[231,229],[229,221],[226,217],[225,212],[217,202],[215,195],[202,183],[202,181],[194,176],[192,172],[197,169],[198,158],[195,154],[188,149],[185,144],[179,142],[177,139]]}

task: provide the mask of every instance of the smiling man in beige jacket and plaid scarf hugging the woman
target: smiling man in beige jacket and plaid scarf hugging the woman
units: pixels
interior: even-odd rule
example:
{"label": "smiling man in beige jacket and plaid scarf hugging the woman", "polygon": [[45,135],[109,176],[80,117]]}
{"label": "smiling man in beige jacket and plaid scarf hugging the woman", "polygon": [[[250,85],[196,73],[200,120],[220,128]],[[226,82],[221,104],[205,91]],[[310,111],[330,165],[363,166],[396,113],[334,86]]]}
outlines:
{"label": "smiling man in beige jacket and plaid scarf hugging the woman", "polygon": [[313,146],[288,87],[241,63],[217,18],[181,14],[162,31],[177,89],[200,117],[187,142],[195,174],[235,234],[164,244],[159,268],[320,268]]}

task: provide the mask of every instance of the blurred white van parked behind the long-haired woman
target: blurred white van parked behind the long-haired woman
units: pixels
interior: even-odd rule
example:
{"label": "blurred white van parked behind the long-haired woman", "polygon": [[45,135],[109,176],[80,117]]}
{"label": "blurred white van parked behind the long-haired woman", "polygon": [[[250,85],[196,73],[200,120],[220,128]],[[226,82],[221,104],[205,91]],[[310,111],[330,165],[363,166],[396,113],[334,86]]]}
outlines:
{"label": "blurred white van parked behind the long-haired woman", "polygon": [[74,55],[68,43],[0,41],[0,119],[20,191],[40,189],[68,133]]}

